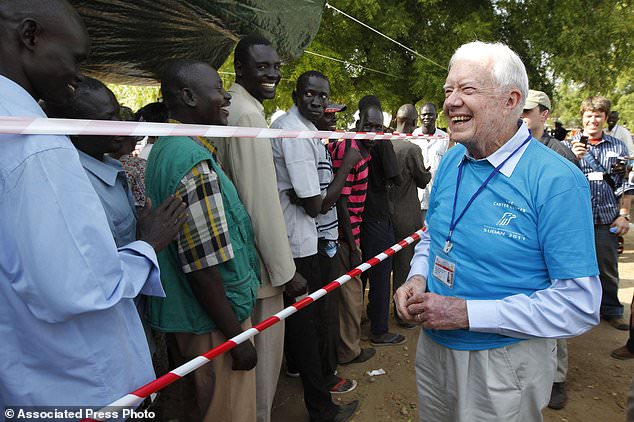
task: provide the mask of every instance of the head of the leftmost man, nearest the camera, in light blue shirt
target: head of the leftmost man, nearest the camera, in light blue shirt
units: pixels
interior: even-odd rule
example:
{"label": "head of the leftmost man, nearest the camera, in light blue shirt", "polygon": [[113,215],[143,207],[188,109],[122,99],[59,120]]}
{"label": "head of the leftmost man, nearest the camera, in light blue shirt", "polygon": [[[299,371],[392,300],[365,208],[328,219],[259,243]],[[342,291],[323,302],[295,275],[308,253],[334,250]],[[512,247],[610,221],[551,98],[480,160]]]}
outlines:
{"label": "head of the leftmost man, nearest the camera, in light blue shirt", "polygon": [[86,28],[66,0],[0,0],[0,74],[36,100],[68,100],[88,48]]}

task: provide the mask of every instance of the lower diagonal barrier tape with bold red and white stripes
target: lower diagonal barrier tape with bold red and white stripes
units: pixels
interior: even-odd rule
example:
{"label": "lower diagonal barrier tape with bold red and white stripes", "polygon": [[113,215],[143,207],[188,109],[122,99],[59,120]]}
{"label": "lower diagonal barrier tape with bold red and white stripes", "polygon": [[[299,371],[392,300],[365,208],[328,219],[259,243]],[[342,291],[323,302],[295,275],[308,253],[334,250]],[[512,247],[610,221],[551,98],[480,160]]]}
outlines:
{"label": "lower diagonal barrier tape with bold red and white stripes", "polygon": [[[384,261],[388,257],[394,255],[396,252],[416,242],[417,240],[420,239],[420,237],[422,236],[425,230],[426,230],[425,227],[421,228],[420,230],[417,230],[416,232],[412,233],[405,239],[401,240],[395,245],[390,246],[388,249],[384,250],[383,252],[376,255],[375,257],[370,258],[366,262],[358,265],[357,267],[348,271],[346,274],[342,275],[336,280],[328,283],[326,286],[322,287],[316,292],[311,293],[310,295],[306,296],[305,298],[301,299],[298,302],[295,302],[293,305],[289,306],[288,308],[282,309],[280,312],[276,313],[275,315],[268,317],[267,319],[260,322],[259,324],[256,324],[253,327],[249,328],[248,330],[240,333],[239,335],[233,338],[230,338],[229,340],[225,341],[221,345],[214,347],[213,349],[198,356],[197,358],[194,358],[190,360],[189,362],[186,362],[185,364],[171,370],[167,374],[155,379],[154,381],[145,384],[143,387],[133,391],[132,393],[110,403],[108,406],[99,410],[99,412],[107,413],[109,412],[109,409],[113,409],[113,408],[138,406],[143,400],[145,400],[146,397],[150,396],[150,394],[154,394],[162,390],[163,388],[167,387],[174,381],[177,381],[183,378],[185,375],[189,374],[190,372],[193,372],[196,369],[200,368],[201,366],[207,364],[216,356],[219,356],[225,352],[228,352],[229,350],[236,347],[238,344],[243,343],[252,337],[255,337],[257,334],[260,334],[262,331],[266,330],[272,325],[275,325],[278,322],[288,318],[289,316],[293,315],[295,312],[299,311],[302,308],[305,308],[306,306],[310,305],[314,301],[325,296],[327,293],[331,292],[332,290],[339,288],[343,284],[350,281],[353,277],[358,276],[362,272],[365,272],[368,269],[374,267],[379,262]],[[104,419],[83,419],[82,422],[103,421],[103,420]]]}

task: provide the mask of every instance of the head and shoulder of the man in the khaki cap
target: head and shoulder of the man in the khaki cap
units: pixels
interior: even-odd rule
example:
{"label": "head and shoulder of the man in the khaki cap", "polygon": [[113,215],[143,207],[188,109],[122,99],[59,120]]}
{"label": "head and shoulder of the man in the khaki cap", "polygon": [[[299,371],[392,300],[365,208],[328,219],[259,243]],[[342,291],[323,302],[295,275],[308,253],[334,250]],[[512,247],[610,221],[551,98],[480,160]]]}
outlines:
{"label": "head and shoulder of the man in the khaki cap", "polygon": [[524,104],[522,119],[524,119],[526,126],[528,126],[532,132],[533,138],[569,161],[577,164],[577,158],[572,151],[544,130],[544,123],[546,123],[546,120],[550,116],[550,110],[550,99],[548,95],[546,95],[545,92],[530,89],[528,91],[528,97],[526,98],[526,104]]}

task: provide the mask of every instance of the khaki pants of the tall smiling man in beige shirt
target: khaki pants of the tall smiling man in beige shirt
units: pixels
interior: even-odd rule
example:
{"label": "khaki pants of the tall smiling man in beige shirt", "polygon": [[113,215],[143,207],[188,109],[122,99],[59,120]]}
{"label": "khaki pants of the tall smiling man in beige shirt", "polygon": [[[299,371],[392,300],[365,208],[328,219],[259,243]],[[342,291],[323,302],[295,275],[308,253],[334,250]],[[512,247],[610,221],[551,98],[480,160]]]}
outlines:
{"label": "khaki pants of the tall smiling man in beige shirt", "polygon": [[[281,294],[258,299],[251,316],[253,323],[257,324],[283,308],[284,299]],[[258,352],[258,364],[255,366],[257,421],[270,422],[284,356],[284,321],[255,336],[255,349]]]}

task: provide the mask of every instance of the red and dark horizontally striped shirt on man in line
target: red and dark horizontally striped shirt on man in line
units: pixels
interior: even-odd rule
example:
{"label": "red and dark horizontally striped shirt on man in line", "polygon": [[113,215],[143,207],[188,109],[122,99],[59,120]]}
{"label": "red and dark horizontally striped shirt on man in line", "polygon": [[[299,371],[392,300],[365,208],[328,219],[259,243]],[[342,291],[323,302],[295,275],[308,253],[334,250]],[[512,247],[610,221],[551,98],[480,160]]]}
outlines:
{"label": "red and dark horizontally striped shirt on man in line", "polygon": [[[332,167],[335,172],[339,170],[343,163],[343,156],[346,148],[360,149],[357,141],[354,139],[346,139],[328,144],[328,150],[332,157]],[[352,236],[354,241],[359,245],[359,234],[361,221],[363,221],[363,208],[365,206],[365,195],[368,190],[368,163],[370,155],[362,158],[348,174],[346,183],[341,190],[341,195],[348,197],[348,213],[350,214],[350,226],[352,227]],[[339,239],[345,240],[341,229],[339,228]]]}

